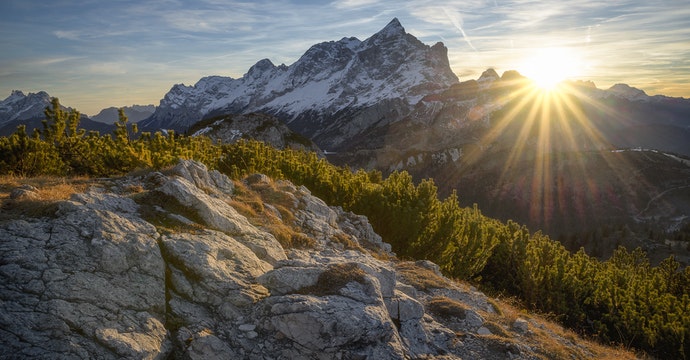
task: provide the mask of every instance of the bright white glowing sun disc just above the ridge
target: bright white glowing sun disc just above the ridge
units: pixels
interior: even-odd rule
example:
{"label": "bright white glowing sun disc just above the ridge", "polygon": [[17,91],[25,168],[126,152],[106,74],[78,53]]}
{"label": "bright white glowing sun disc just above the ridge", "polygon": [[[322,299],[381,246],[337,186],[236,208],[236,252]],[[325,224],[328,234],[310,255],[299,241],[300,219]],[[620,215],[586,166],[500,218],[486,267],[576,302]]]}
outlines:
{"label": "bright white glowing sun disc just above the ridge", "polygon": [[518,71],[543,90],[554,90],[563,80],[581,73],[579,56],[569,48],[542,48],[528,56]]}

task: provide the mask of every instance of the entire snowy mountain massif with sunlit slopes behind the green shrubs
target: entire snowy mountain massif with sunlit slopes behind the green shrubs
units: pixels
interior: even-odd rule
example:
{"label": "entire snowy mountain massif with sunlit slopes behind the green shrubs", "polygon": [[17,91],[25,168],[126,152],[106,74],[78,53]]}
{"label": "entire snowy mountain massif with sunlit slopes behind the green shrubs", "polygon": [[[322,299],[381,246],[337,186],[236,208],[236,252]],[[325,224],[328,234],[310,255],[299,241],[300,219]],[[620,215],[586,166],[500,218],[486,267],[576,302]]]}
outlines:
{"label": "entire snowy mountain massif with sunlit slopes behind the green shrubs", "polygon": [[441,194],[457,190],[463,204],[574,250],[605,258],[625,243],[690,263],[687,246],[669,245],[690,222],[688,99],[583,81],[546,94],[493,69],[459,82],[443,44],[424,45],[393,19],[365,41],[316,44],[290,66],[264,59],[239,79],[175,85],[140,127],[260,112],[336,164],[431,177]]}

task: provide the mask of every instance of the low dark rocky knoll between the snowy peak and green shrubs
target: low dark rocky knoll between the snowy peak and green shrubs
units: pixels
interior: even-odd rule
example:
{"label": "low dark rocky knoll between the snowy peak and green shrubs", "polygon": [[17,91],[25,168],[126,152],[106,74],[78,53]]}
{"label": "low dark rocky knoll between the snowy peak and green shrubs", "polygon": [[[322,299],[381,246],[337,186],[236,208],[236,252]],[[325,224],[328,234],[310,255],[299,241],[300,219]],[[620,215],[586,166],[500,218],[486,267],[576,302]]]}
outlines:
{"label": "low dark rocky knoll between the snowy peak and green shrubs", "polygon": [[192,125],[187,131],[191,136],[205,135],[224,144],[240,139],[254,139],[270,144],[276,149],[302,149],[325,156],[311,140],[290,130],[277,118],[266,114],[221,115]]}

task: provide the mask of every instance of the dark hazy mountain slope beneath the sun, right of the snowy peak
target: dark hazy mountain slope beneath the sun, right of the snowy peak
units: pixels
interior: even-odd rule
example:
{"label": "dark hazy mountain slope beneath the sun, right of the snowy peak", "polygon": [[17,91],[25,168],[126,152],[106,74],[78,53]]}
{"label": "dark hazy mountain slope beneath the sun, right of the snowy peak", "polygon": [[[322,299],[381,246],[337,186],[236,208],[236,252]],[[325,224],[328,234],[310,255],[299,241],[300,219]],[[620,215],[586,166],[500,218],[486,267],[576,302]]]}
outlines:
{"label": "dark hazy mountain slope beneath the sun, right of the snowy peak", "polygon": [[675,240],[690,220],[690,101],[563,86],[546,96],[517,72],[487,71],[425,97],[380,132],[384,148],[328,156],[433,178],[440,193],[571,250],[608,258],[626,245],[690,264]]}

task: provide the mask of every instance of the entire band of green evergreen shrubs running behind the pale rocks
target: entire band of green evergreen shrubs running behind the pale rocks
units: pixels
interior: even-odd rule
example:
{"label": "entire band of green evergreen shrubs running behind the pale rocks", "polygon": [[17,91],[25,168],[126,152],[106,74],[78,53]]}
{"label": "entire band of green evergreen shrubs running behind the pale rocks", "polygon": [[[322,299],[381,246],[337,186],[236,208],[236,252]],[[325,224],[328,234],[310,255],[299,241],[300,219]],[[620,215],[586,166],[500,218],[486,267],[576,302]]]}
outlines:
{"label": "entire band of green evergreen shrubs running behind the pale rocks", "polygon": [[582,249],[571,253],[540,232],[460,207],[456,193],[441,200],[433,180],[415,184],[406,172],[383,179],[378,171],[352,171],[315,153],[256,141],[216,145],[173,132],[138,134],[122,111],[114,136],[86,134],[79,113],[62,110],[57,99],[45,114],[42,131],[29,136],[20,126],[0,137],[1,174],[112,176],[195,159],[233,178],[258,172],[289,179],[366,215],[400,257],[428,259],[450,277],[517,296],[603,342],[690,357],[690,269],[673,257],[653,267],[639,249],[621,247],[604,262]]}

